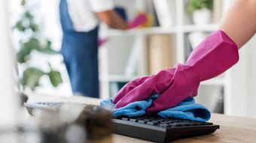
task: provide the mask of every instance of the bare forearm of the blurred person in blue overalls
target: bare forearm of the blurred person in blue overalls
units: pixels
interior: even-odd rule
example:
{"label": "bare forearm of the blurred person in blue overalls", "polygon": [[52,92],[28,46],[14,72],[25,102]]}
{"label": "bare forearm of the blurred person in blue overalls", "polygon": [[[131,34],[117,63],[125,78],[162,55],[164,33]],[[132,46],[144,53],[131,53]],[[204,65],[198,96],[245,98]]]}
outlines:
{"label": "bare forearm of the blurred person in blue overalls", "polygon": [[97,16],[111,28],[125,30],[128,27],[127,22],[124,21],[114,10],[97,13]]}

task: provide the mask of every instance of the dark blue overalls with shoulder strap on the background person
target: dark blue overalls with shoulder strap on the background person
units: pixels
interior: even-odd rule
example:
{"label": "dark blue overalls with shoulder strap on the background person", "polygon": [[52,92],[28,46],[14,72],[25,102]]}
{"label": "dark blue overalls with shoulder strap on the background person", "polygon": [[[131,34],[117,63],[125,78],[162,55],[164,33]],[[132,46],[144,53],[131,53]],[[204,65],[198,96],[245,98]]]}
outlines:
{"label": "dark blue overalls with shoulder strap on the background person", "polygon": [[73,29],[66,0],[59,4],[63,37],[61,53],[74,94],[99,97],[98,28],[88,32]]}

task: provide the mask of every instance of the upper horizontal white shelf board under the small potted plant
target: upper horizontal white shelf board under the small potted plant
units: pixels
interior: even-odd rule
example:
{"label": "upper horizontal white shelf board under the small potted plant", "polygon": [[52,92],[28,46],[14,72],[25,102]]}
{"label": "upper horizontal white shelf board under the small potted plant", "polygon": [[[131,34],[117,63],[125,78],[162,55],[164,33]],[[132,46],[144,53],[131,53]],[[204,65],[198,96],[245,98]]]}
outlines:
{"label": "upper horizontal white shelf board under the small potted plant", "polygon": [[183,26],[173,26],[171,28],[163,27],[151,27],[151,28],[139,28],[130,30],[116,30],[108,29],[105,33],[108,37],[117,36],[133,36],[138,34],[176,34],[178,32],[190,32],[190,31],[215,31],[218,28],[216,24],[210,25],[183,25]]}

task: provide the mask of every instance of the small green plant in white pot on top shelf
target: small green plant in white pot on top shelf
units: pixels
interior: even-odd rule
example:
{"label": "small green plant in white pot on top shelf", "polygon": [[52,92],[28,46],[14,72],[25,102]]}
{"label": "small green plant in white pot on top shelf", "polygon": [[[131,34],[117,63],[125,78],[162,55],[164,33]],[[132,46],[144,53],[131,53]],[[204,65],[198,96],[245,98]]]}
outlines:
{"label": "small green plant in white pot on top shelf", "polygon": [[213,0],[189,0],[187,11],[192,15],[196,25],[206,25],[212,22]]}

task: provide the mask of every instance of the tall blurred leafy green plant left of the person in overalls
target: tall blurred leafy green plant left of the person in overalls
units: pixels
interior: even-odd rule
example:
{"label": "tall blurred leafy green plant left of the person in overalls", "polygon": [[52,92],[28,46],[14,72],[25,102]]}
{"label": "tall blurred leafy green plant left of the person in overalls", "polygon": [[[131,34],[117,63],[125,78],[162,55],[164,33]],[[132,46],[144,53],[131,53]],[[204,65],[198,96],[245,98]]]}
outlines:
{"label": "tall blurred leafy green plant left of the person in overalls", "polygon": [[[23,14],[14,25],[14,30],[20,34],[20,46],[17,51],[17,63],[19,69],[19,88],[30,88],[32,91],[40,86],[42,76],[48,76],[51,85],[57,87],[62,83],[62,77],[58,70],[48,63],[47,71],[41,70],[40,67],[35,67],[30,64],[32,52],[38,52],[44,55],[55,55],[59,52],[52,49],[51,42],[41,34],[38,24],[35,22],[35,17],[31,12],[31,8],[27,6],[26,0],[21,1],[23,6]],[[47,64],[47,63],[45,63]]]}

